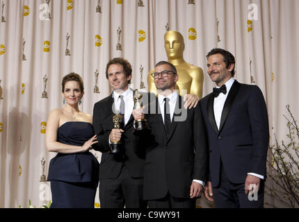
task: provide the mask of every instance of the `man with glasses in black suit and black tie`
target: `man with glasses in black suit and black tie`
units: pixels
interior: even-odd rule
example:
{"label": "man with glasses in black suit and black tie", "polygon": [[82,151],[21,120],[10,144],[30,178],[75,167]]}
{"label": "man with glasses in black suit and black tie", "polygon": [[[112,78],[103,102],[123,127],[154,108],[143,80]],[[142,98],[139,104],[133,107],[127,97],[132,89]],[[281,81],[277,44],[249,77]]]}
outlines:
{"label": "man with glasses in black suit and black tie", "polygon": [[[175,66],[156,64],[154,84],[158,97],[149,107],[136,109],[134,119],[147,119],[152,135],[137,139],[145,150],[144,198],[152,207],[195,207],[207,180],[208,149],[202,112],[185,109],[175,90]],[[147,110],[149,114],[143,114]]]}

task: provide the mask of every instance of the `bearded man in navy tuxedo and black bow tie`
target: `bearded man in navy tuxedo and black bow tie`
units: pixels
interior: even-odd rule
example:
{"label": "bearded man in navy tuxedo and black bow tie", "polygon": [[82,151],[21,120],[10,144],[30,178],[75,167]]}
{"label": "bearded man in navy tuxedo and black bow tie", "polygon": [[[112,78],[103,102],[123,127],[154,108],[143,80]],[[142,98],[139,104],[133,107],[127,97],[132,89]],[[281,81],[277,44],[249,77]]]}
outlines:
{"label": "bearded man in navy tuxedo and black bow tie", "polygon": [[207,55],[207,72],[216,87],[200,101],[209,143],[210,181],[204,193],[216,207],[263,207],[266,103],[259,87],[234,79],[234,67],[229,51],[212,49]]}

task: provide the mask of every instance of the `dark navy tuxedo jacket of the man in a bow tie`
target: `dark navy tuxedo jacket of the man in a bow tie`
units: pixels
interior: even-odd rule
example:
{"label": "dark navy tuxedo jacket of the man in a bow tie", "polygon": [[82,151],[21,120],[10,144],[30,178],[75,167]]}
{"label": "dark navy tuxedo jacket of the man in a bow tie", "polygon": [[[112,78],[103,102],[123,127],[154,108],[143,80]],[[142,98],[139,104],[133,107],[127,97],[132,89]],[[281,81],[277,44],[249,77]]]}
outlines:
{"label": "dark navy tuxedo jacket of the man in a bow tie", "polygon": [[200,100],[209,143],[209,176],[217,187],[220,161],[233,183],[245,183],[247,173],[266,178],[269,128],[261,89],[234,80],[229,90],[218,130],[213,112],[213,93]]}

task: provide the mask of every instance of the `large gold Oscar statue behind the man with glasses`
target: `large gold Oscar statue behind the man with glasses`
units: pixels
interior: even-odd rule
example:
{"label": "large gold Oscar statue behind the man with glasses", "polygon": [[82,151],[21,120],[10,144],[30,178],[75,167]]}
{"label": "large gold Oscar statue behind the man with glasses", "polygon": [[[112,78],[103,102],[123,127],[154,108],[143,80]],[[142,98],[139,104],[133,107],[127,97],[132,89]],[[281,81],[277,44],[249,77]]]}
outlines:
{"label": "large gold Oscar statue behind the man with glasses", "polygon": [[[168,31],[164,35],[165,51],[168,57],[168,62],[175,65],[179,80],[177,81],[176,89],[179,89],[179,94],[182,95],[181,90],[185,89],[184,94],[195,94],[199,99],[202,99],[202,83],[204,82],[204,74],[200,67],[195,67],[184,60],[184,37],[177,31]],[[156,93],[154,85],[154,78],[151,74],[154,69],[149,71],[147,76],[147,83],[149,85],[149,92]]]}

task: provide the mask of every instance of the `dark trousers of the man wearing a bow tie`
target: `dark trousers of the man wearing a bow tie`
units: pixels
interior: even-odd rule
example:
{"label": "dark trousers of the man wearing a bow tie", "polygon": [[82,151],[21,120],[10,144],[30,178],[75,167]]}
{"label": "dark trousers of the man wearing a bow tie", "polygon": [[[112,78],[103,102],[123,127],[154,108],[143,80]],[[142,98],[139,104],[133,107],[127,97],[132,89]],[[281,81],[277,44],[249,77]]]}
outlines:
{"label": "dark trousers of the man wearing a bow tie", "polygon": [[216,208],[262,208],[264,206],[264,180],[260,180],[257,194],[245,195],[245,181],[235,184],[229,181],[223,165],[220,169],[220,184],[213,188]]}

